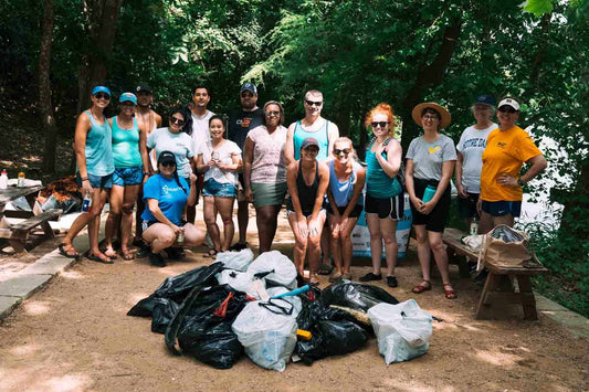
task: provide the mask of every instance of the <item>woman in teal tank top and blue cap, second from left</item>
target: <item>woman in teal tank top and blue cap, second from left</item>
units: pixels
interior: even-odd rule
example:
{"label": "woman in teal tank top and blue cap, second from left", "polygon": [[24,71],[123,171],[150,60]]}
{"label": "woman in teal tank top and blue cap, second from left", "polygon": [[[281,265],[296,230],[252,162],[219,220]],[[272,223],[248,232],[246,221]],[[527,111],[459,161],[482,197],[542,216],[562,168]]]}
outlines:
{"label": "woman in teal tank top and blue cap, second from left", "polygon": [[133,206],[137,200],[145,174],[149,171],[147,163],[146,129],[139,128],[134,117],[137,97],[123,93],[118,99],[118,116],[108,119],[113,128],[113,188],[108,201],[111,211],[105,226],[105,252],[116,258],[113,248],[113,234],[120,222],[120,255],[133,259],[128,243],[133,230]]}

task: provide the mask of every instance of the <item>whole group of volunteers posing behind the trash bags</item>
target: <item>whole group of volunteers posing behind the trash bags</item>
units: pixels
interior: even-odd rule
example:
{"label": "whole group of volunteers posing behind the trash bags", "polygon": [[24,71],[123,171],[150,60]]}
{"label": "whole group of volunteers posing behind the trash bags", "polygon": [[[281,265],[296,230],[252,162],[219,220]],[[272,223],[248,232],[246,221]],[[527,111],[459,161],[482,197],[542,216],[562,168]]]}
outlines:
{"label": "whole group of volunteers posing behind the trash bags", "polygon": [[[311,283],[318,282],[320,258],[333,256],[329,279],[351,279],[351,232],[364,210],[370,232],[372,271],[361,282],[382,279],[381,257],[387,261],[386,282],[397,287],[395,274],[398,244],[397,222],[403,219],[404,197],[410,199],[422,282],[419,294],[431,289],[430,254],[442,276],[443,292],[452,299],[448,258],[442,244],[451,200],[450,182],[455,172],[460,213],[480,219],[480,232],[497,224],[513,225],[519,215],[522,187],[536,177],[546,160],[525,130],[516,126],[519,104],[505,98],[497,106],[499,126],[491,121],[495,102],[478,96],[472,110],[476,124],[464,130],[457,148],[440,130],[451,123],[450,113],[435,103],[422,103],[412,110],[423,135],[413,139],[406,153],[393,138],[395,114],[381,103],[366,118],[372,134],[366,167],[360,165],[347,137],[322,117],[323,94],[308,91],[303,99],[305,117],[286,128],[283,106],[269,100],[257,107],[252,83],[241,87],[241,108],[224,118],[210,112],[206,86],[197,86],[187,107],[170,112],[168,126],[151,108],[152,92],[140,85],[120,95],[119,113],[105,118],[111,91],[92,91],[92,106],[78,117],[75,129],[77,181],[92,195],[91,209],[81,214],[60,245],[67,257],[77,256],[72,240],[87,224],[88,258],[113,263],[117,257],[113,239],[120,242],[120,255],[129,250],[133,212],[137,202],[136,241],[143,241],[151,264],[165,266],[168,258],[182,256],[182,246],[197,246],[206,233],[194,223],[202,193],[203,218],[210,237],[209,251],[242,250],[249,204],[255,208],[260,253],[267,252],[276,233],[277,216],[286,199],[286,212],[295,246],[293,258],[301,275],[308,262]],[[455,165],[457,161],[457,165]],[[520,176],[524,162],[530,163]],[[105,247],[98,247],[99,214],[107,200]],[[238,200],[239,241],[234,235],[233,208]],[[222,221],[222,235],[217,224]]]}

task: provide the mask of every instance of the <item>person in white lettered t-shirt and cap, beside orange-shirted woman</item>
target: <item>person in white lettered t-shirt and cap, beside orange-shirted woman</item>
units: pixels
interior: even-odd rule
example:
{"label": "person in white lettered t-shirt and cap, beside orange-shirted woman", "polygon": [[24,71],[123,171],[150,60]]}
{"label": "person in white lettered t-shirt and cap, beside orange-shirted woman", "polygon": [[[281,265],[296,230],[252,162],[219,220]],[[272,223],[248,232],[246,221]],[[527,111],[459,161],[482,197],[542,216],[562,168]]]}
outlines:
{"label": "person in white lettered t-shirt and cap, beside orange-shirted woman", "polygon": [[[459,191],[459,212],[467,227],[471,226],[473,219],[478,220],[476,202],[481,193],[482,156],[488,134],[498,127],[491,121],[495,112],[494,105],[495,99],[491,95],[484,94],[476,97],[472,106],[476,124],[464,129],[456,145],[455,177]],[[486,231],[482,231],[483,229],[480,227],[480,232],[486,233]]]}

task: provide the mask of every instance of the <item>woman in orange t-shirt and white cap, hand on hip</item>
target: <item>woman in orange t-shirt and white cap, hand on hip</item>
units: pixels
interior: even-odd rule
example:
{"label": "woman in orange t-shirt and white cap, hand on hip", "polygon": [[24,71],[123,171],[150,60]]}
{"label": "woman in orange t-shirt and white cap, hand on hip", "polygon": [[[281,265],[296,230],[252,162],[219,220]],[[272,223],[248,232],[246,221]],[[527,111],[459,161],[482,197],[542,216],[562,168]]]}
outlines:
{"label": "woman in orange t-shirt and white cap, hand on hip", "polygon": [[[487,233],[496,225],[513,226],[522,210],[522,187],[546,169],[546,159],[529,135],[515,123],[519,103],[504,98],[497,106],[499,128],[493,130],[483,151],[480,232]],[[532,165],[520,174],[522,166]]]}

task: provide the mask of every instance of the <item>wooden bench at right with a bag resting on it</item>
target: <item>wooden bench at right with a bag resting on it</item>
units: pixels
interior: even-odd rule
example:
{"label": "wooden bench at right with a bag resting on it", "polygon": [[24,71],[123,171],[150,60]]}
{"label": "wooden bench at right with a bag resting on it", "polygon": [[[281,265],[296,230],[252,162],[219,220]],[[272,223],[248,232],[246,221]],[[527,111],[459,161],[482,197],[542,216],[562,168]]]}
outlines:
{"label": "wooden bench at right with a bag resting on it", "polygon": [[[460,240],[466,234],[456,229],[446,229],[443,235],[443,242],[446,245],[446,252],[450,254],[463,256],[464,266],[466,266],[466,257],[477,259],[478,253],[473,252]],[[461,264],[459,264],[460,266]],[[528,320],[537,320],[538,314],[536,311],[536,299],[532,290],[530,276],[547,272],[543,266],[537,267],[496,267],[485,263],[488,269],[488,275],[485,280],[483,293],[476,307],[475,318],[477,320],[485,318],[485,310],[495,303],[498,304],[522,304],[524,309],[524,318]],[[461,269],[462,275],[462,269]],[[517,279],[519,292],[515,292],[513,286],[509,290],[498,292],[503,276],[513,277]]]}

